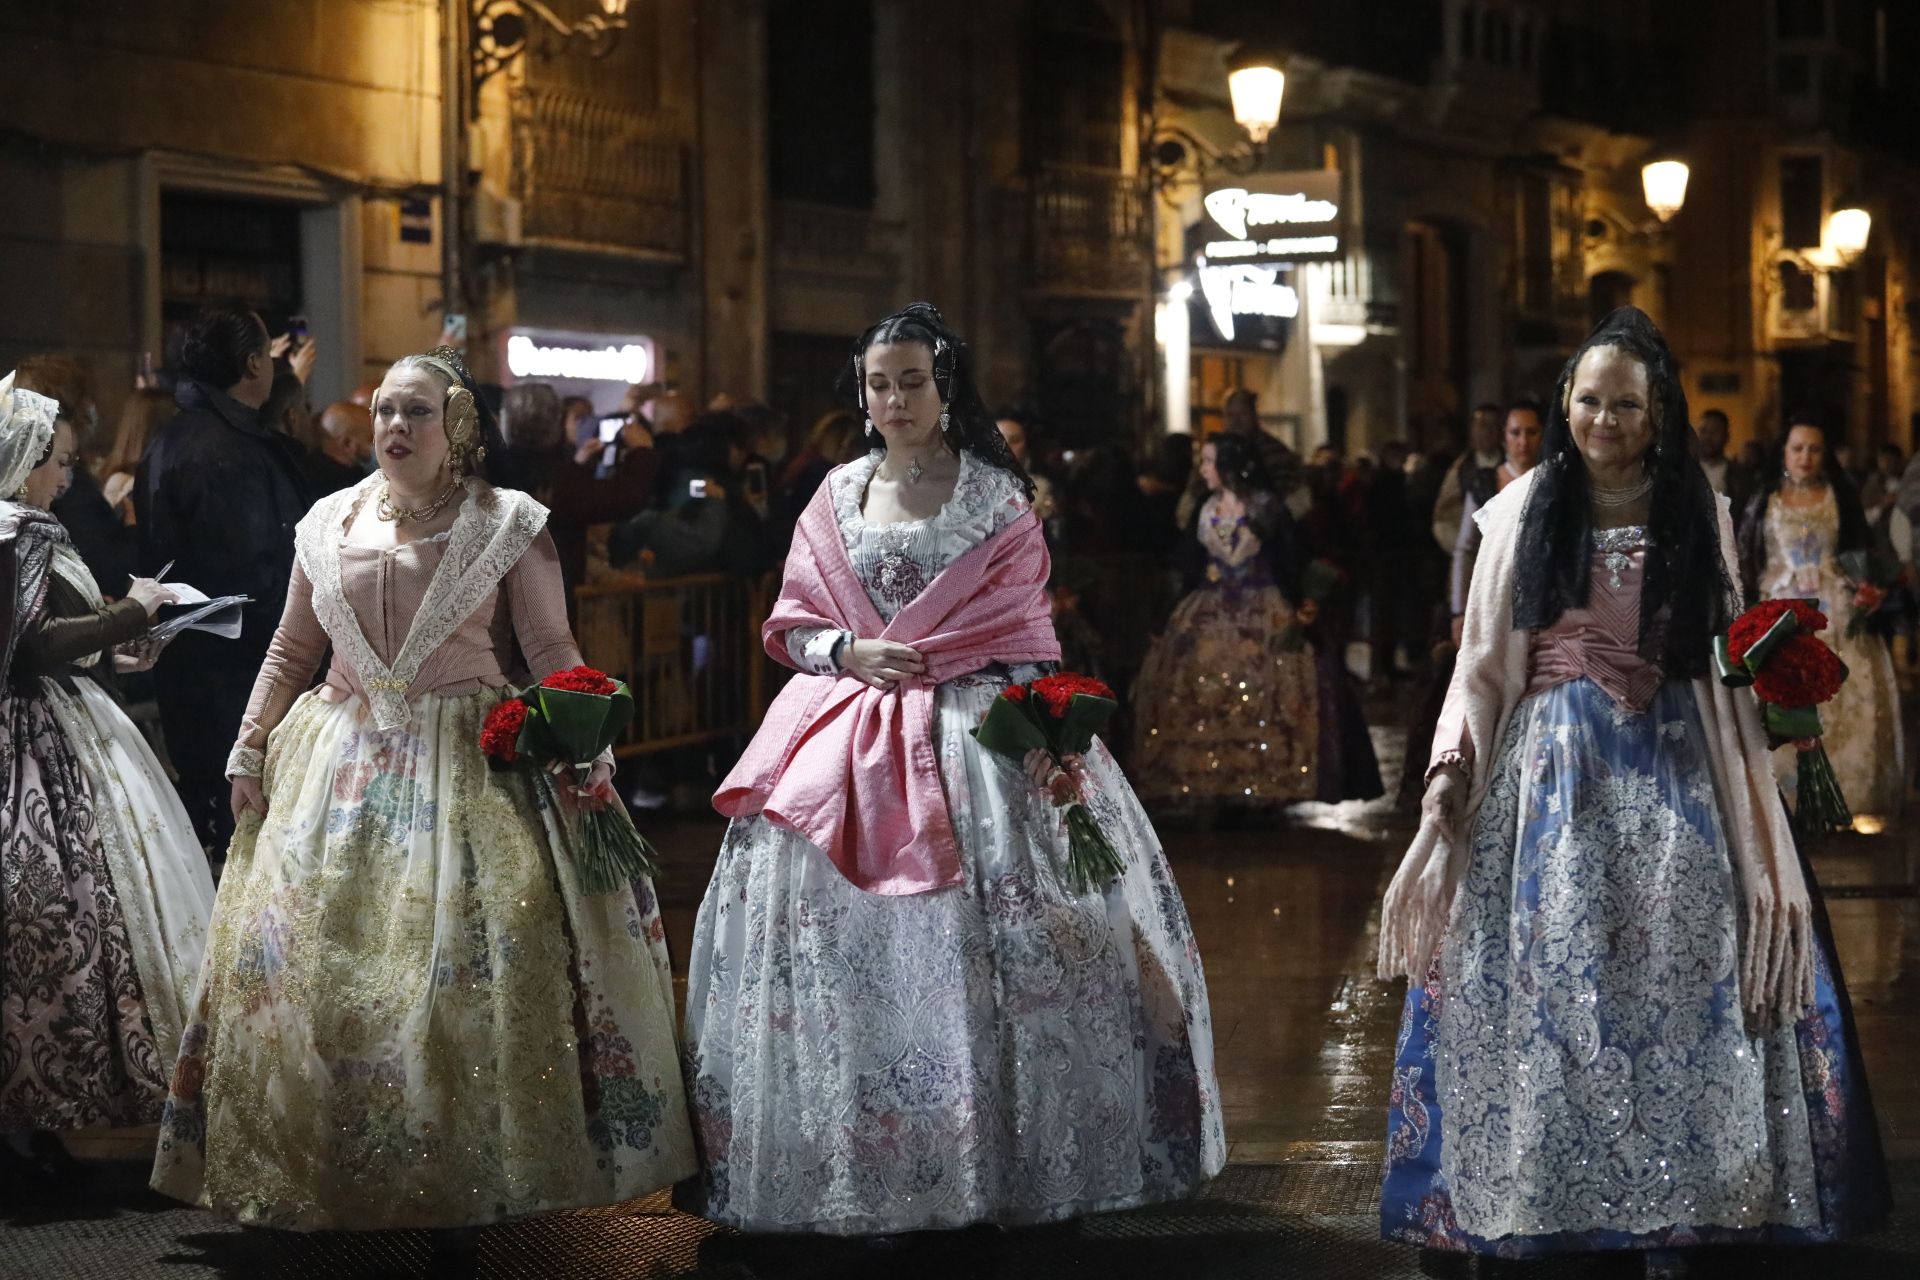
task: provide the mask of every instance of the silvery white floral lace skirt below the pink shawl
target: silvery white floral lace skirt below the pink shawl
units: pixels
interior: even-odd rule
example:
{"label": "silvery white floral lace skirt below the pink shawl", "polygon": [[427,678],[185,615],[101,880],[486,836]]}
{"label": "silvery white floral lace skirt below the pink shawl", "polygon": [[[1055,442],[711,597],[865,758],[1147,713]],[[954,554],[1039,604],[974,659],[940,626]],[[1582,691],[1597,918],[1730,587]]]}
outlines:
{"label": "silvery white floral lace skirt below the pink shawl", "polygon": [[1060,810],[968,735],[1000,685],[937,691],[964,885],[868,894],[764,818],[728,829],[687,973],[689,1209],[766,1232],[1044,1222],[1179,1197],[1225,1163],[1160,841],[1096,743],[1091,804],[1127,871],[1068,890]]}

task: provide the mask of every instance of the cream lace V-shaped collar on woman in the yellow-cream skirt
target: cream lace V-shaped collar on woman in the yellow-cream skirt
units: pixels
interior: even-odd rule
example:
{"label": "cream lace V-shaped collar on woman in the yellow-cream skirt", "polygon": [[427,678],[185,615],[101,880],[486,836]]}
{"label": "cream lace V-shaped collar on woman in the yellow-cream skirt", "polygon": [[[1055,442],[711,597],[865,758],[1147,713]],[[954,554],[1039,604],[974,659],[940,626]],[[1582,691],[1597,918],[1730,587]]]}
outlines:
{"label": "cream lace V-shaped collar on woman in the yellow-cream skirt", "polygon": [[468,478],[467,497],[449,530],[447,553],[426,585],[407,639],[388,666],[374,652],[340,583],[338,535],[378,484],[380,476],[374,472],[351,489],[321,499],[300,522],[294,547],[313,583],[313,614],[367,689],[374,723],[392,731],[405,727],[413,716],[407,702],[420,666],[518,562],[545,528],[547,509],[518,489],[495,489]]}

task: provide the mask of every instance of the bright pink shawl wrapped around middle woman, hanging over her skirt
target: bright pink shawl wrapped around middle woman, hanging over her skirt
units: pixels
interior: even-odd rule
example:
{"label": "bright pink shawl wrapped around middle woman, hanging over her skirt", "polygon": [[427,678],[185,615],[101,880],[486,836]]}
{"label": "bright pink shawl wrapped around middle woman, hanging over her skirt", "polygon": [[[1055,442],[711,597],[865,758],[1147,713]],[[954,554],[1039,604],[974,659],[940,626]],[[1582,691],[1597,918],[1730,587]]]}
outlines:
{"label": "bright pink shawl wrapped around middle woman, hanging over her skirt", "polygon": [[868,892],[948,889],[960,883],[960,848],[933,752],[933,687],[991,662],[1060,658],[1046,541],[1023,512],[883,624],[847,558],[831,487],[829,476],[793,533],[780,601],[760,631],[766,652],[793,666],[789,629],[839,628],[910,645],[927,674],[887,691],[852,676],[795,676],[720,783],[714,808],[728,818],[764,814],[801,833]]}

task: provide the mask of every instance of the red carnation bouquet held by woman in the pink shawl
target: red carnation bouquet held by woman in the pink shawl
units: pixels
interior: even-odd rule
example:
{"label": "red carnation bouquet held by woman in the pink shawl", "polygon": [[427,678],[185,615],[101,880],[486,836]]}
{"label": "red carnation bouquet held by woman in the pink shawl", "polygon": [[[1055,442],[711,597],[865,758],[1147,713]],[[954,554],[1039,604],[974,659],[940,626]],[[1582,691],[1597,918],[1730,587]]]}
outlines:
{"label": "red carnation bouquet held by woman in the pink shawl", "polygon": [[1068,883],[1075,892],[1104,887],[1127,869],[1081,787],[1083,756],[1116,710],[1114,691],[1091,676],[1043,676],[1002,689],[973,729],[973,741],[1021,768],[1031,768],[1033,752],[1046,752],[1046,794],[1068,810]]}

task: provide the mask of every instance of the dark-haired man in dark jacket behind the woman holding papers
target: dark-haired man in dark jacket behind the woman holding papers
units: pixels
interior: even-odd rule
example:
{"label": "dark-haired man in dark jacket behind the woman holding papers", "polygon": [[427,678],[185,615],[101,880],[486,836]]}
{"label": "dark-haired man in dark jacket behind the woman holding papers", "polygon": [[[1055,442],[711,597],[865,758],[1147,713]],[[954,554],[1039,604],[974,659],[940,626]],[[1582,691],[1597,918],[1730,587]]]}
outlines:
{"label": "dark-haired man in dark jacket behind the woman holding papers", "polygon": [[188,322],[180,413],[148,443],[134,486],[144,572],[171,562],[173,581],[253,597],[236,639],[188,631],[154,668],[180,798],[215,854],[232,837],[227,752],[280,622],[294,524],[309,505],[296,445],[259,420],[273,390],[267,345],[252,311],[211,307]]}

